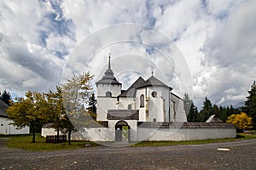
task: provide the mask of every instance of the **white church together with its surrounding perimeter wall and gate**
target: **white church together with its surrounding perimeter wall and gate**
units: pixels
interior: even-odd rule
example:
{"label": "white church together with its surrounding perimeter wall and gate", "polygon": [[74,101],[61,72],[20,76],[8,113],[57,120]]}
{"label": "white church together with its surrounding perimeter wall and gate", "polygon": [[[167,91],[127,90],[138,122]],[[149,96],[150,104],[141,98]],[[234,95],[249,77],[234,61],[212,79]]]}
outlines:
{"label": "white church together with its surrounding perimeter wall and gate", "polygon": [[187,122],[183,99],[153,73],[147,80],[138,77],[122,90],[110,62],[109,56],[108,68],[96,82],[96,119],[100,124],[79,129],[85,139],[132,142],[236,137],[231,124]]}

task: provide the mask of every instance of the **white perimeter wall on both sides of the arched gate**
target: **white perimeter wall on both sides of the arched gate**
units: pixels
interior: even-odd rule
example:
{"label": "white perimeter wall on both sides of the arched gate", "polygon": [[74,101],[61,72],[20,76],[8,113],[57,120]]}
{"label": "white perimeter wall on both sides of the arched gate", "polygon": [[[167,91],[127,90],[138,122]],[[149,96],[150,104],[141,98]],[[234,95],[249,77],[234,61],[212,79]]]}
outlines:
{"label": "white perimeter wall on both sides of the arched gate", "polygon": [[[108,127],[84,128],[85,139],[92,141],[114,141],[115,131]],[[135,138],[137,136],[137,138]],[[236,138],[234,127],[137,127],[130,130],[131,141],[183,141]]]}

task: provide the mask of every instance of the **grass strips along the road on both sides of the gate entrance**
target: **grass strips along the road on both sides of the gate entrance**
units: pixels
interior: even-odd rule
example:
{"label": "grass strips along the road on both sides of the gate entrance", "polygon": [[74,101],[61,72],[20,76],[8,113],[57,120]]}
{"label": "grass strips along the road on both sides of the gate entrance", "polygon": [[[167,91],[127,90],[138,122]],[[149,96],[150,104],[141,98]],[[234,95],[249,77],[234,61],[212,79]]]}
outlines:
{"label": "grass strips along the road on both sides of the gate entrance", "polygon": [[[46,143],[45,138],[41,137],[40,134],[36,136],[36,143],[32,143],[32,135],[14,135],[14,136],[0,136],[0,138],[9,138],[8,146],[10,148],[18,148],[23,150],[32,151],[45,151],[45,150],[73,150],[84,148],[85,144],[90,144],[91,146],[98,146],[94,142],[90,141],[72,141],[71,144],[60,143],[52,144]],[[209,144],[218,142],[230,142],[245,139],[256,139],[256,135],[252,133],[237,133],[236,139],[207,139],[207,140],[192,140],[192,141],[154,141],[133,144],[132,146],[166,146],[166,145],[177,145],[177,144]]]}

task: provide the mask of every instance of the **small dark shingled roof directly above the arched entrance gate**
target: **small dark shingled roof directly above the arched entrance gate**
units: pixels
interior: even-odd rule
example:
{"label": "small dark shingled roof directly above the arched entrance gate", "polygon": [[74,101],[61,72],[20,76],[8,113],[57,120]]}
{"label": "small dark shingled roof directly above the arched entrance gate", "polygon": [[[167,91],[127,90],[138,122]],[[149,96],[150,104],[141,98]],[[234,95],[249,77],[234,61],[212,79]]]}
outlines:
{"label": "small dark shingled roof directly above the arched entrance gate", "polygon": [[108,110],[108,120],[139,120],[138,110]]}

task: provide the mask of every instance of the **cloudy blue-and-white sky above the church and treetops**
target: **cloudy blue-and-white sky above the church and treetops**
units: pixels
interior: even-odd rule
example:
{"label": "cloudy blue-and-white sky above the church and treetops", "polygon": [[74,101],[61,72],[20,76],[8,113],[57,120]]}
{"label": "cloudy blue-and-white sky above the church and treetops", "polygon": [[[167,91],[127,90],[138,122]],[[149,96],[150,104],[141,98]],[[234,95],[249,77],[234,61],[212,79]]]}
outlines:
{"label": "cloudy blue-and-white sky above the church and treetops", "polygon": [[[165,55],[166,37],[172,47]],[[63,75],[83,70],[96,81],[110,52],[124,88],[153,69],[174,88],[189,84],[199,107],[205,96],[237,106],[256,79],[256,3],[1,1],[0,43],[0,90],[13,96],[47,92]]]}

